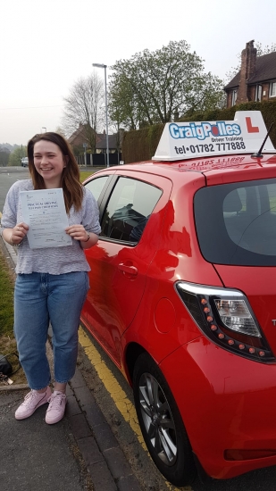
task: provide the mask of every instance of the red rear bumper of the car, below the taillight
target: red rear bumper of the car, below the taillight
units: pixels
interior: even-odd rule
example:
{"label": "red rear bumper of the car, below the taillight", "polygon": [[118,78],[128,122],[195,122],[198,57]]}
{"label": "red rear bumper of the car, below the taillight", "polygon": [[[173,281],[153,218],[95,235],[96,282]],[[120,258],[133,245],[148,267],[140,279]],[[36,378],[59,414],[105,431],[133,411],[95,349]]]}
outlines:
{"label": "red rear bumper of the car, below the taillight", "polygon": [[[160,366],[208,475],[229,479],[275,465],[276,456],[233,462],[224,451],[274,449],[276,454],[276,365],[245,360],[197,337]],[[172,376],[172,366],[185,366],[185,371]]]}

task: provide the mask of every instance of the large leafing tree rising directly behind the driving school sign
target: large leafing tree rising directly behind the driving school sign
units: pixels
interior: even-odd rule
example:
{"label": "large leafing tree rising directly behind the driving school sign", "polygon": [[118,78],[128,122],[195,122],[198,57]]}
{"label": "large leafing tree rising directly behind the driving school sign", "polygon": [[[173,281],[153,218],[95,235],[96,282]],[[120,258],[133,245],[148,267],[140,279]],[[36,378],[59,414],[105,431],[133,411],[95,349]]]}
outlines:
{"label": "large leafing tree rising directly behind the driving school sign", "polygon": [[189,48],[186,41],[171,41],[113,65],[109,111],[118,127],[138,129],[222,104],[222,80],[205,73],[203,60]]}

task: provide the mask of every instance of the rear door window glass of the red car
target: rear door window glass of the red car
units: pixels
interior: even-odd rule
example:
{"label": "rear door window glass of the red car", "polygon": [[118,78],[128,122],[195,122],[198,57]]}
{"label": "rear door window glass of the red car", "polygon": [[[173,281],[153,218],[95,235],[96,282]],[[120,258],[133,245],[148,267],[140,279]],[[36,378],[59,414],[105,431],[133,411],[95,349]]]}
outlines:
{"label": "rear door window glass of the red car", "polygon": [[100,237],[138,243],[162,190],[138,179],[121,177],[105,209]]}

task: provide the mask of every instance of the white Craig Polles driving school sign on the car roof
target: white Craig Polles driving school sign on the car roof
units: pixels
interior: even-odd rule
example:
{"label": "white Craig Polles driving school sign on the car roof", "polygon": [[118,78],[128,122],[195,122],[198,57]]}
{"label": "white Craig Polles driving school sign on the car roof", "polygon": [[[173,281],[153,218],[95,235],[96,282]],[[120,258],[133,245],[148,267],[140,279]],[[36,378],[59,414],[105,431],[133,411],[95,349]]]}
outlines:
{"label": "white Craig Polles driving school sign on the car roof", "polygon": [[[234,121],[166,123],[154,161],[177,161],[220,154],[256,153],[267,129],[260,111],[237,111]],[[270,137],[263,153],[275,153]]]}

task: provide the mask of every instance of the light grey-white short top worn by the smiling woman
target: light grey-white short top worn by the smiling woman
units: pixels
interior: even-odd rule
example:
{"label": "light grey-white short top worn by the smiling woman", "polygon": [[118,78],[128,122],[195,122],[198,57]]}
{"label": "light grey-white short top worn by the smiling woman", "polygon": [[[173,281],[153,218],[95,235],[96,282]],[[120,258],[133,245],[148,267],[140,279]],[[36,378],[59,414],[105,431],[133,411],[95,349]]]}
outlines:
{"label": "light grey-white short top worn by the smiling woman", "polygon": [[[31,179],[19,180],[9,189],[1,219],[2,229],[13,229],[17,223],[23,221],[20,192],[33,189]],[[96,199],[86,187],[83,187],[83,200],[79,212],[76,212],[72,206],[68,214],[68,222],[69,225],[81,224],[88,232],[96,235],[100,233]],[[17,251],[17,273],[63,274],[90,270],[84,251],[79,241],[75,239],[72,239],[72,245],[30,249],[28,238],[24,237]]]}

